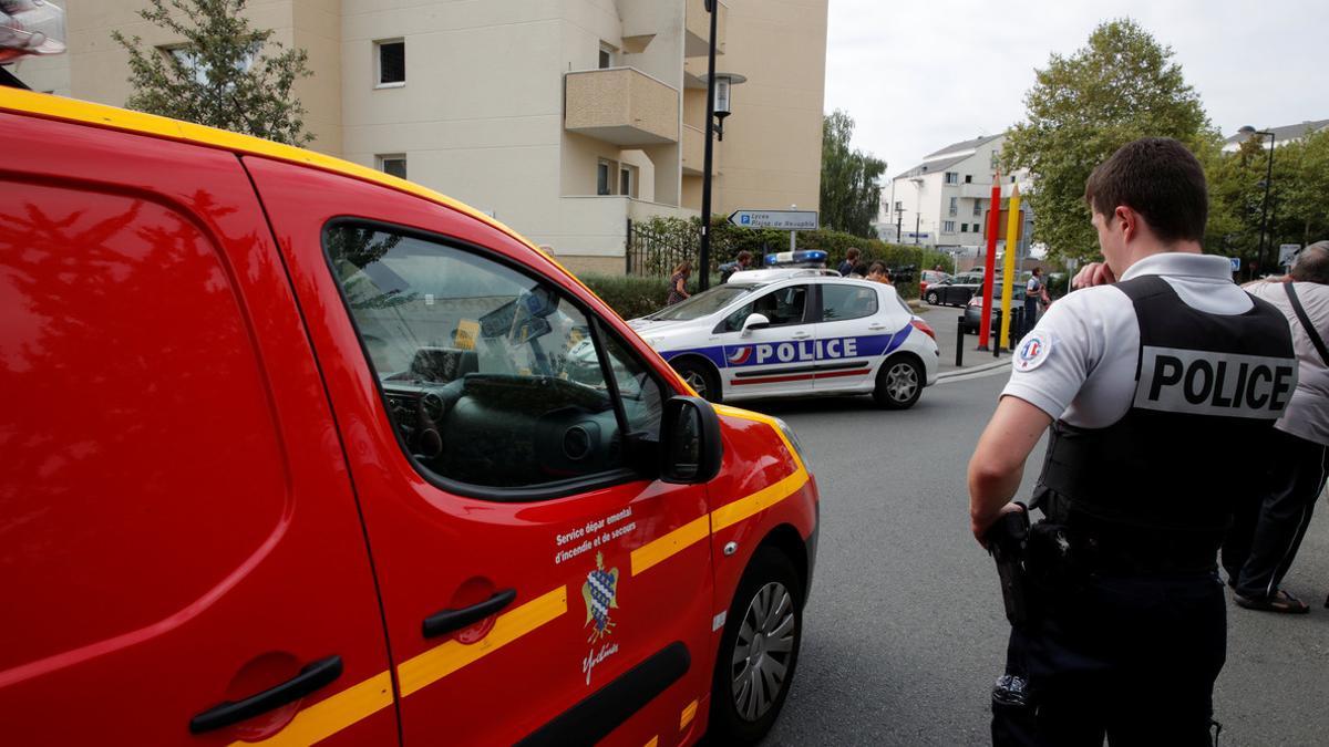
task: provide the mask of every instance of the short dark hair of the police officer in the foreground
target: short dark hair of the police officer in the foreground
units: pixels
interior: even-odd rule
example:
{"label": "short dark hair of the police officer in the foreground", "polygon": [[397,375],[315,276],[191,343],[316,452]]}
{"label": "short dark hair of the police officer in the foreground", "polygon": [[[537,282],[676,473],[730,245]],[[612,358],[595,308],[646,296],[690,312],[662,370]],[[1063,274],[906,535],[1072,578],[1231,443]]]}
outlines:
{"label": "short dark hair of the police officer in the foreground", "polygon": [[1144,137],[1119,148],[1090,174],[1084,201],[1104,218],[1119,205],[1135,210],[1166,243],[1203,241],[1209,215],[1204,167],[1167,137]]}

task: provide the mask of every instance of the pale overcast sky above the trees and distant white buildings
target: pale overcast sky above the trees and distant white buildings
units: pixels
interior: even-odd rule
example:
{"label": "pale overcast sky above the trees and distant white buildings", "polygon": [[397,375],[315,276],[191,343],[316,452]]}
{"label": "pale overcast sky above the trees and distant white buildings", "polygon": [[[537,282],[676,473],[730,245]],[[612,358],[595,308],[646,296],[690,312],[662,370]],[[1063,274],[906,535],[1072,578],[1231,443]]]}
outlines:
{"label": "pale overcast sky above the trees and distant white buildings", "polygon": [[1225,136],[1329,118],[1326,0],[831,0],[825,109],[896,175],[1023,118],[1034,69],[1114,17],[1172,48]]}

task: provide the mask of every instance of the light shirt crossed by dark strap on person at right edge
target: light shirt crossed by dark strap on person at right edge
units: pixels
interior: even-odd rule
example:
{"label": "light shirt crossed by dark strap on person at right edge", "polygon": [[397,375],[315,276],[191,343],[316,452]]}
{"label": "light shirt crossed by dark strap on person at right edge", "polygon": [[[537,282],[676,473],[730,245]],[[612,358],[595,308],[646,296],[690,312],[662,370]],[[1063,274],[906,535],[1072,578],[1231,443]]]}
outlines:
{"label": "light shirt crossed by dark strap on person at right edge", "polygon": [[[1306,316],[1320,332],[1320,339],[1325,340],[1329,335],[1329,286],[1293,283],[1293,287]],[[1292,348],[1297,352],[1297,388],[1292,392],[1292,404],[1275,428],[1329,445],[1329,367],[1310,342],[1310,335],[1301,327],[1282,283],[1251,283],[1245,290],[1272,303],[1292,324]],[[1325,344],[1329,346],[1329,340]]]}

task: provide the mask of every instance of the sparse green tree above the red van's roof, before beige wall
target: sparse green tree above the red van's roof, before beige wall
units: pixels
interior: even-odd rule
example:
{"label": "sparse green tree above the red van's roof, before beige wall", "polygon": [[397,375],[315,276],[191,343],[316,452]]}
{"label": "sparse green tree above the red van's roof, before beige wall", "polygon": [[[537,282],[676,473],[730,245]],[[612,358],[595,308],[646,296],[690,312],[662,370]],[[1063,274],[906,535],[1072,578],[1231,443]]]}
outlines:
{"label": "sparse green tree above the red van's roof, before beige wall", "polygon": [[181,37],[179,47],[144,47],[137,36],[112,37],[129,52],[130,109],[225,130],[304,145],[306,110],[291,94],[311,76],[303,49],[284,49],[272,31],[255,31],[247,0],[149,0],[140,17]]}

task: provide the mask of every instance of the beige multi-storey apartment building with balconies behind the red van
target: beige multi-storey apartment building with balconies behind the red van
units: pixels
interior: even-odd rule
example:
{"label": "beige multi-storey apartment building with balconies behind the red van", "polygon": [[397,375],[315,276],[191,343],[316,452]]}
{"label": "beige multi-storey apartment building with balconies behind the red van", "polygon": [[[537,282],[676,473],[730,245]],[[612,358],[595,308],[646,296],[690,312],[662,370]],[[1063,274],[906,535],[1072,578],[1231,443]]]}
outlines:
{"label": "beige multi-storey apartment building with balconies behind the red van", "polygon": [[[716,69],[732,116],[712,210],[816,209],[829,0],[724,0]],[[112,31],[166,53],[148,0],[57,0],[69,53],[24,61],[32,88],[124,105]],[[703,0],[250,0],[304,48],[315,150],[437,189],[554,250],[622,272],[629,221],[702,205],[710,19]]]}

